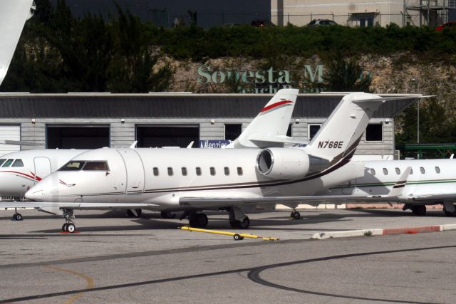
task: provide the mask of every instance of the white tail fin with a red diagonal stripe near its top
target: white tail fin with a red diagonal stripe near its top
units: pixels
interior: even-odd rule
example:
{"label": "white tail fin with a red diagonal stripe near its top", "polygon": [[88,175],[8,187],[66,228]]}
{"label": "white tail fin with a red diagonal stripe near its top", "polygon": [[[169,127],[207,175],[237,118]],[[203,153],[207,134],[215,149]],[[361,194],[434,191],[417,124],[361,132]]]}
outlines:
{"label": "white tail fin with a red diagonal stripe near its top", "polygon": [[244,132],[227,147],[283,147],[295,142],[286,136],[299,90],[282,89],[261,109]]}

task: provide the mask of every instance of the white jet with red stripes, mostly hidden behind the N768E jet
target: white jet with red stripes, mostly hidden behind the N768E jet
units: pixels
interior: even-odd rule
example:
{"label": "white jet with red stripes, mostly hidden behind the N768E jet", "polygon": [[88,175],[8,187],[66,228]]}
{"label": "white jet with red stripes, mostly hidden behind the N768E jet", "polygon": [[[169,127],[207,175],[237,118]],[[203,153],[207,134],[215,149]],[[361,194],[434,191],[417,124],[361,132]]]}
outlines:
{"label": "white jet with red stripes, mostly hidden behind the N768E jet", "polygon": [[[259,112],[259,115],[252,120],[249,126],[242,132],[240,138],[243,138],[242,144],[237,147],[267,147],[271,145],[282,145],[279,141],[295,142],[293,138],[286,137],[286,131],[289,127],[291,115],[293,114],[294,105],[298,90],[284,89],[279,90],[271,100]],[[274,107],[274,111],[269,111]],[[246,135],[262,135],[263,141],[251,141]],[[234,141],[234,142],[237,142]],[[274,142],[274,143],[270,143]],[[6,144],[33,145],[33,142],[5,142]],[[136,143],[136,142],[135,142]],[[135,147],[135,143],[130,148]],[[16,201],[24,198],[24,194],[33,187],[34,184],[47,177],[51,172],[60,169],[63,164],[76,157],[76,155],[88,150],[23,150],[11,152],[0,159],[0,196],[11,197]],[[55,214],[58,209],[39,209]],[[140,215],[141,209],[128,209],[129,216]],[[163,211],[163,218],[174,217],[175,214]],[[14,220],[23,219],[22,215],[17,212],[13,215]]]}

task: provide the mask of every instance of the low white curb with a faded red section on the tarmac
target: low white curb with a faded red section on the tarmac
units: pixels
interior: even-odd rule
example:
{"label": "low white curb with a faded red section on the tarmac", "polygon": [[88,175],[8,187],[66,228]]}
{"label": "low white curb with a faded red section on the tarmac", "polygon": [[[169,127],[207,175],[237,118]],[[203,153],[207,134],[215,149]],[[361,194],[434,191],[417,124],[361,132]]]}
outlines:
{"label": "low white curb with a faded red section on the tarmac", "polygon": [[421,234],[425,232],[440,232],[449,230],[456,230],[456,224],[418,226],[393,229],[361,229],[348,231],[317,232],[316,234],[311,236],[311,239],[326,240],[336,238],[350,238],[353,236],[389,236],[396,234]]}

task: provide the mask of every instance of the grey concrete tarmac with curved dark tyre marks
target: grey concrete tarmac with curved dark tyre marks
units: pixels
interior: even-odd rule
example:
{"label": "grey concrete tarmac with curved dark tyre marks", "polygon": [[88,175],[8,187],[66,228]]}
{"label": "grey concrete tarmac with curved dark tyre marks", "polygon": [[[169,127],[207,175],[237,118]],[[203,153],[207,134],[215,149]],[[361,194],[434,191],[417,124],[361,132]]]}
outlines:
{"label": "grey concrete tarmac with curved dark tyre marks", "polygon": [[[63,219],[0,213],[0,303],[454,303],[456,231],[310,240],[321,231],[456,224],[442,211],[304,210],[253,214],[247,232],[280,241],[182,231],[145,211],[76,211]],[[227,214],[207,229],[234,231]],[[246,231],[242,231],[246,232]]]}

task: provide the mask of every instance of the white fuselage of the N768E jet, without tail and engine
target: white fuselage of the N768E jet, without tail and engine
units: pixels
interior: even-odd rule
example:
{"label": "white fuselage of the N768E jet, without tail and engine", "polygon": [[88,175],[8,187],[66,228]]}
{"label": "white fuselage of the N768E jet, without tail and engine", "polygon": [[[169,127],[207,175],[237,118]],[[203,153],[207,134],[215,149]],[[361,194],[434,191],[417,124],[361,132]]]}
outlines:
{"label": "white fuselage of the N768E jet, without tail and engine", "polygon": [[296,196],[361,177],[362,164],[341,159],[318,174],[271,179],[256,167],[259,149],[98,149],[72,162],[107,162],[98,171],[59,170],[30,189],[26,198],[54,202],[150,203],[180,209],[181,197]]}

